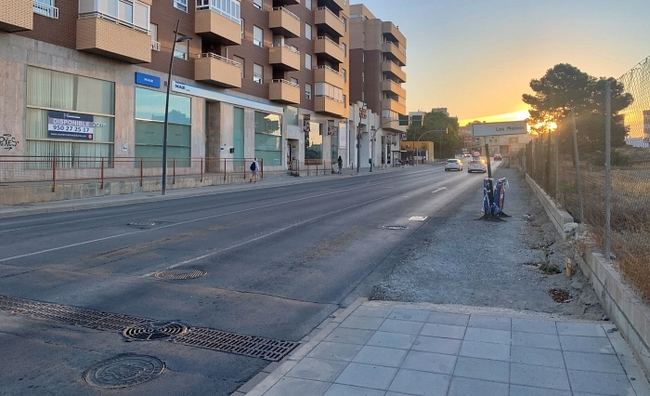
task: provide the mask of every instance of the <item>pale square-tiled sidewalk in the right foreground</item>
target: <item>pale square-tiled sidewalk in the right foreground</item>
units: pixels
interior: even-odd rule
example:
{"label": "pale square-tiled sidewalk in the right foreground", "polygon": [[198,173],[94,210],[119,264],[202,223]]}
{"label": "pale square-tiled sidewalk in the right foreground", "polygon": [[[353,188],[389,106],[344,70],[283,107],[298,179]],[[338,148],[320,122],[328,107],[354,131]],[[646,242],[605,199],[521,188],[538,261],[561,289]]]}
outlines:
{"label": "pale square-tiled sidewalk in the right foreground", "polygon": [[360,299],[312,334],[234,395],[650,395],[609,322]]}

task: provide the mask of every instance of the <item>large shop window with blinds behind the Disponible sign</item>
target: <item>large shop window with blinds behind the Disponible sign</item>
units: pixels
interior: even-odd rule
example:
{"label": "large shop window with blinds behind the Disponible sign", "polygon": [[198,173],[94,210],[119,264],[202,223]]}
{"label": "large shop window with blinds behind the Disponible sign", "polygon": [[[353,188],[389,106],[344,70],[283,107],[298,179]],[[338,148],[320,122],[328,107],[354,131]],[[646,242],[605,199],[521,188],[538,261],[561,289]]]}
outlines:
{"label": "large shop window with blinds behind the Disponible sign", "polygon": [[[99,168],[101,158],[110,164],[113,82],[28,66],[26,103],[25,155],[57,156],[58,168]],[[49,168],[50,164],[29,166]]]}

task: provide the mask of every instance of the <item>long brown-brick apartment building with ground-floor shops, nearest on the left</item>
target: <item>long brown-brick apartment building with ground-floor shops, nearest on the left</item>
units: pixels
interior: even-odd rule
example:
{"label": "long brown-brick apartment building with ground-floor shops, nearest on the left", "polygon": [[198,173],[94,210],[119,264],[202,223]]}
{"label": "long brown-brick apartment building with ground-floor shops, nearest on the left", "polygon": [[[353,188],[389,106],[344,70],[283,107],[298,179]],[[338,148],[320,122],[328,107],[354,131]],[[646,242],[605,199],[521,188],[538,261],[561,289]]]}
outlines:
{"label": "long brown-brick apartment building with ground-floor shops, nearest on the left", "polygon": [[57,156],[79,175],[96,164],[70,158],[142,172],[119,159],[161,158],[173,59],[167,155],[206,159],[176,166],[218,172],[236,164],[222,159],[255,157],[266,170],[305,159],[322,168],[347,155],[348,7],[0,0],[0,135],[16,142],[2,154]]}

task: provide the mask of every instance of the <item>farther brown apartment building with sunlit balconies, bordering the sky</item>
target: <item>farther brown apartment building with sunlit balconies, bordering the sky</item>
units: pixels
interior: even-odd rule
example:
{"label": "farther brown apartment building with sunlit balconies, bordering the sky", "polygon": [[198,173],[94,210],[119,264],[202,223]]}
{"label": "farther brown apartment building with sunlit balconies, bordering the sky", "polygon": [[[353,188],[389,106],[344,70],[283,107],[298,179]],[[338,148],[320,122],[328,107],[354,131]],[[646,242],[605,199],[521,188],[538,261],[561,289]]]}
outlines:
{"label": "farther brown apartment building with sunlit balconies, bordering the sky", "polygon": [[380,128],[372,130],[359,123],[356,131],[362,141],[370,142],[362,146],[370,150],[374,166],[392,165],[399,158],[399,142],[408,126],[402,87],[405,65],[406,37],[399,27],[376,18],[363,4],[350,5],[350,98],[381,116]]}

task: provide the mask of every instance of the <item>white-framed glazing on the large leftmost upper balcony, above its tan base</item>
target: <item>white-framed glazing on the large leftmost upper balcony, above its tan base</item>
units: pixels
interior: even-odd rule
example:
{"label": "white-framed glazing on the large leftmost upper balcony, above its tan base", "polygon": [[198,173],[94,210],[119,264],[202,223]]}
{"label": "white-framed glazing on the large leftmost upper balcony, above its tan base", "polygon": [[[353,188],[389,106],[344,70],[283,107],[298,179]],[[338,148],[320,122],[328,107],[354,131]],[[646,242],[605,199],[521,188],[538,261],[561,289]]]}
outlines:
{"label": "white-framed glazing on the large leftmost upper balcony, above its tan base", "polygon": [[140,32],[149,33],[149,6],[139,1],[79,0],[79,18],[108,19]]}

